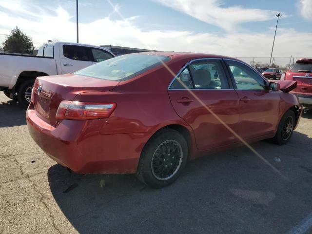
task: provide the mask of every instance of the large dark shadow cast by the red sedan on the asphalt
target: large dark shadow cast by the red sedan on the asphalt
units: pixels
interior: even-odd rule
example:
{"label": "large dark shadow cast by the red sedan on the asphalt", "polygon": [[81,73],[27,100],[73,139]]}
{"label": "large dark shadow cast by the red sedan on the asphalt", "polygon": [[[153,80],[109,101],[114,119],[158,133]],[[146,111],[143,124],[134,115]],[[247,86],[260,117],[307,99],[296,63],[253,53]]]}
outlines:
{"label": "large dark shadow cast by the red sedan on the asphalt", "polygon": [[48,179],[82,234],[286,233],[312,211],[311,145],[298,132],[284,146],[253,144],[288,180],[244,147],[191,161],[174,184],[158,190],[133,175],[77,175],[59,164]]}

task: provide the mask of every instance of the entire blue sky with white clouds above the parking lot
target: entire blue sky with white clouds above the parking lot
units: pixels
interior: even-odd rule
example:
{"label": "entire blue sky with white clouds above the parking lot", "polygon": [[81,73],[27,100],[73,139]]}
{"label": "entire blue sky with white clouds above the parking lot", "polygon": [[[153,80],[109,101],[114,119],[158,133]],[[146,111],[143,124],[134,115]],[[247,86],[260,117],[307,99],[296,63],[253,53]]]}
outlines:
{"label": "entire blue sky with white clouds above the parking lot", "polygon": [[[312,57],[312,0],[79,0],[79,42],[232,57]],[[0,41],[76,42],[76,0],[0,0]]]}

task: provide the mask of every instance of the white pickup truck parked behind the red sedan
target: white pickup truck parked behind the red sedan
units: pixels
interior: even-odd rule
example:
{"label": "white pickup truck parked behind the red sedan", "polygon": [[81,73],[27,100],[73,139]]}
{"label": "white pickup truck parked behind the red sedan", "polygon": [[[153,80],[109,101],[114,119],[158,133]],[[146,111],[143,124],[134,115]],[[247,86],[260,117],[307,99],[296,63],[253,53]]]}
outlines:
{"label": "white pickup truck parked behind the red sedan", "polygon": [[113,57],[99,46],[53,41],[41,46],[37,56],[0,53],[0,91],[28,106],[37,77],[76,72]]}

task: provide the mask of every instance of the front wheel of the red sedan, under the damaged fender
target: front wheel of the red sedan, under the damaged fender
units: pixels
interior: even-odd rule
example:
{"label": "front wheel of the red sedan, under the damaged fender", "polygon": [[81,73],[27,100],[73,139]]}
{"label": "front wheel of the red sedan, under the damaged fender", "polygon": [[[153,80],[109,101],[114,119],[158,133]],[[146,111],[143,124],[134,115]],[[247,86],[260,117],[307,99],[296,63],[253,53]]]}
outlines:
{"label": "front wheel of the red sedan, under the damaged fender", "polygon": [[278,124],[277,132],[273,137],[273,142],[278,145],[286,144],[292,137],[293,128],[295,127],[295,116],[293,111],[288,110]]}

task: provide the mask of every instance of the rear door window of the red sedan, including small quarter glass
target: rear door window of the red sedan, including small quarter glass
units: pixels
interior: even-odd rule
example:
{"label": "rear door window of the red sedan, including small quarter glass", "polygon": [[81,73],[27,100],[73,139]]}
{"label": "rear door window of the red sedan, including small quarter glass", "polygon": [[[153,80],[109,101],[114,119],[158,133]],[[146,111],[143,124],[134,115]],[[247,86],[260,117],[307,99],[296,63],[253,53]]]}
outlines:
{"label": "rear door window of the red sedan, including small quarter glass", "polygon": [[218,60],[198,60],[187,66],[170,89],[228,89],[229,84]]}

